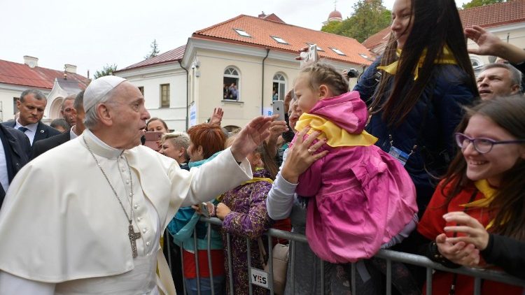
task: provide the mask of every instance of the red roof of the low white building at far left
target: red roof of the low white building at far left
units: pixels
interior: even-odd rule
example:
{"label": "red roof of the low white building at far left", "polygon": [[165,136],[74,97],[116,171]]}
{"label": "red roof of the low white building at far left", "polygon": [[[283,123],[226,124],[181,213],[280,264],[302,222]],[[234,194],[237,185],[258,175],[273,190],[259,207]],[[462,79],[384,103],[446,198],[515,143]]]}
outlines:
{"label": "red roof of the low white building at far left", "polygon": [[[46,69],[40,66],[30,68],[27,64],[0,59],[0,83],[52,89],[55,78],[63,79],[64,71]],[[85,89],[90,82],[83,75],[76,73],[67,73],[67,79],[76,81],[80,89]]]}

